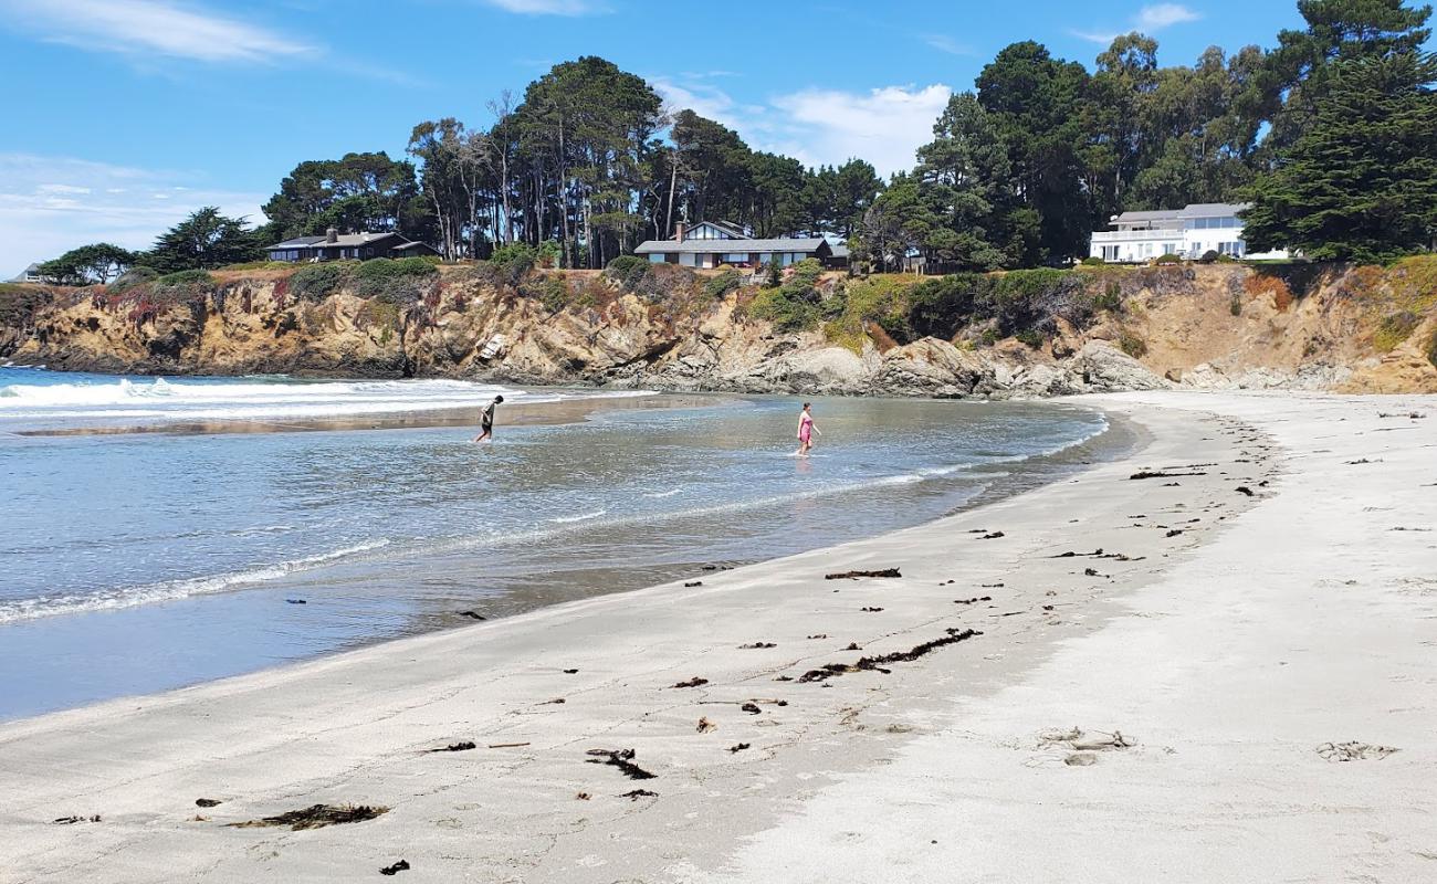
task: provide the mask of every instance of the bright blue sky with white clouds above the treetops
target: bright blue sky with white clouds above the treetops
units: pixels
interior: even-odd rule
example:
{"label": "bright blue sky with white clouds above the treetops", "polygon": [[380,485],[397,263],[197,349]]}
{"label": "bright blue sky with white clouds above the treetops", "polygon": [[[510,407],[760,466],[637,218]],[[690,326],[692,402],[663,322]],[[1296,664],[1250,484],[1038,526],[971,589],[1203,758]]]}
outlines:
{"label": "bright blue sky with white clouds above the treetops", "polygon": [[0,0],[0,279],[147,247],[200,206],[263,220],[300,161],[487,126],[489,101],[581,55],[756,149],[887,175],[1009,43],[1091,68],[1137,29],[1173,65],[1299,26],[1295,0]]}

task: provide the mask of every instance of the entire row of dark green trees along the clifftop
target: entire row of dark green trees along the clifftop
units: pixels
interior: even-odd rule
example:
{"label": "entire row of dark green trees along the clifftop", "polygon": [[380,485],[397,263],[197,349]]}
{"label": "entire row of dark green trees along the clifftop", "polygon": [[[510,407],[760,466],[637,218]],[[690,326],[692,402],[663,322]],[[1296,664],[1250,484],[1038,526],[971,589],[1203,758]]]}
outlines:
{"label": "entire row of dark green trees along the clifftop", "polygon": [[602,267],[687,218],[754,236],[829,234],[890,269],[910,254],[950,270],[1061,266],[1125,210],[1249,201],[1252,250],[1382,260],[1437,237],[1437,63],[1430,6],[1299,0],[1305,27],[1276,46],[1204,50],[1160,66],[1129,33],[1094,69],[1025,40],[951,96],[911,170],[882,181],[851,158],[805,167],[733,129],[665,112],[642,78],[585,56],[487,125],[425,121],[405,157],[305,161],[251,227],[205,208],[148,253],[86,246],[42,267],[108,279],[259,259],[263,246],[341,230],[397,231],[447,259],[549,243],[566,267]]}

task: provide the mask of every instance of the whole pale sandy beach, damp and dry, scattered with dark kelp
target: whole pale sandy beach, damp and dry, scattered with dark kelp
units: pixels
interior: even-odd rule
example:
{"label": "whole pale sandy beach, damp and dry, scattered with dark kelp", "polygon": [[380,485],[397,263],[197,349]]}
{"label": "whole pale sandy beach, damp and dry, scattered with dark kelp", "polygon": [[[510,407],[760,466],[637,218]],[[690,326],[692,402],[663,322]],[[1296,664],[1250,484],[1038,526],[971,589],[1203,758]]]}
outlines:
{"label": "whole pale sandy beach, damp and dry, scattered with dark kelp", "polygon": [[[700,586],[0,726],[0,881],[1437,878],[1437,398],[1079,401],[1138,450]],[[802,680],[948,630],[981,634]],[[226,825],[320,802],[389,809]]]}

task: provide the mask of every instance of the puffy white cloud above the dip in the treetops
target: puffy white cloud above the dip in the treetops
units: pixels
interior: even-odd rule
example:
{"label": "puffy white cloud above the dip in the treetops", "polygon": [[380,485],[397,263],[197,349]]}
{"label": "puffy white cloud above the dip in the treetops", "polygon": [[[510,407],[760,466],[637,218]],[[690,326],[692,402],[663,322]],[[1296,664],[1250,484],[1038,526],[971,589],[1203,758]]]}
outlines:
{"label": "puffy white cloud above the dip in the treetops", "polygon": [[941,83],[868,92],[802,89],[743,105],[710,83],[662,76],[648,80],[670,111],[688,108],[716,119],[754,149],[787,154],[806,165],[858,157],[882,175],[912,168],[914,152],[933,139],[933,124],[953,92]]}

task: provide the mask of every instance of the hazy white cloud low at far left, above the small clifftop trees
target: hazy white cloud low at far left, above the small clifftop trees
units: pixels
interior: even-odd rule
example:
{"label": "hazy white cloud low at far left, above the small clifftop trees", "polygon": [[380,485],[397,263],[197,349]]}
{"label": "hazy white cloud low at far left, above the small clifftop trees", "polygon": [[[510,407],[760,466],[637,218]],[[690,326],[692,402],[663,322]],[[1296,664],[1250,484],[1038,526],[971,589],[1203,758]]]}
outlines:
{"label": "hazy white cloud low at far left, above the small clifftop trees", "polygon": [[201,206],[263,221],[266,198],[210,187],[191,172],[0,154],[0,279],[86,243],[148,249]]}

